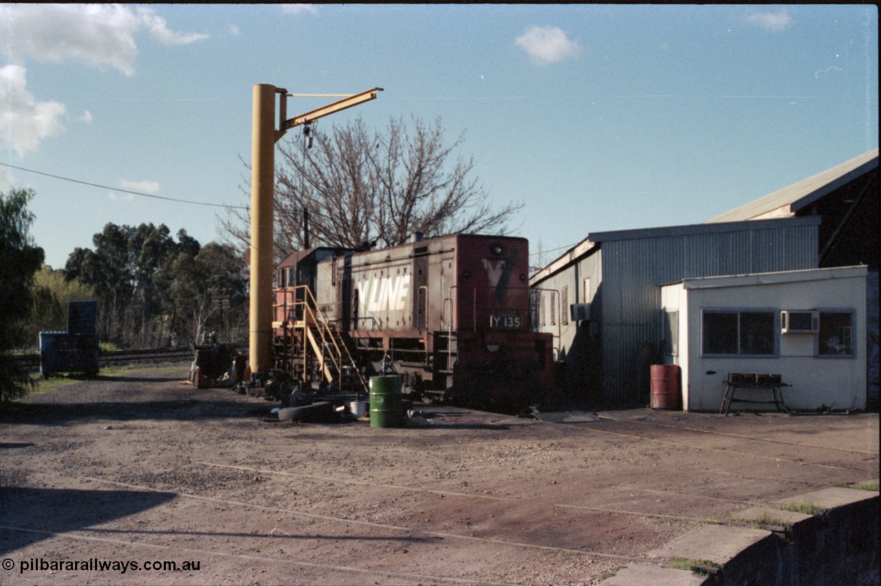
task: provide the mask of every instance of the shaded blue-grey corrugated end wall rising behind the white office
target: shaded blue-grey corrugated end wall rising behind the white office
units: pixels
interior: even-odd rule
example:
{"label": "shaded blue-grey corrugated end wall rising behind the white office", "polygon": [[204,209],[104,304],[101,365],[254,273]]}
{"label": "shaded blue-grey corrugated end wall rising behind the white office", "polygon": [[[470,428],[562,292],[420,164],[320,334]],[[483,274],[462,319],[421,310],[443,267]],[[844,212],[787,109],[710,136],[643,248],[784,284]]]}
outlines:
{"label": "shaded blue-grey corrugated end wall rising behind the white office", "polygon": [[729,232],[600,241],[603,280],[596,295],[602,299],[595,305],[602,307],[597,317],[604,398],[647,398],[648,354],[662,341],[659,286],[683,278],[817,268],[818,226],[750,224]]}

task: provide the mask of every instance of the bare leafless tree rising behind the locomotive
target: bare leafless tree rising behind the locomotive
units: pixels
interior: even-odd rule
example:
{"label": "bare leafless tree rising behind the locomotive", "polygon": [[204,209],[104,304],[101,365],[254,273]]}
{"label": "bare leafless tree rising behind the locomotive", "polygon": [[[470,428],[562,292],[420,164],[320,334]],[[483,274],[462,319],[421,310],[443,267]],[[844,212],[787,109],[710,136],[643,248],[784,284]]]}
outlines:
{"label": "bare leafless tree rising behind the locomotive", "polygon": [[[476,179],[473,157],[453,160],[463,136],[444,142],[440,120],[390,119],[371,134],[361,119],[328,134],[310,128],[313,148],[301,134],[279,146],[275,189],[275,254],[304,248],[303,212],[311,246],[366,248],[426,235],[502,234],[522,204],[494,209]],[[227,210],[221,229],[230,241],[248,245],[248,212]]]}

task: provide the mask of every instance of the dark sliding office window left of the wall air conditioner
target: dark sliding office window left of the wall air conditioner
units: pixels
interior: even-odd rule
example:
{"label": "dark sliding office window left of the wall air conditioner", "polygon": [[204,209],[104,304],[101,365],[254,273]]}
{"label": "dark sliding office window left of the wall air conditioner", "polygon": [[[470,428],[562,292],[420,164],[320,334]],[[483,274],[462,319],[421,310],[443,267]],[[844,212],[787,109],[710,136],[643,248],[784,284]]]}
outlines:
{"label": "dark sliding office window left of the wall air conditioner", "polygon": [[773,311],[705,311],[702,331],[705,355],[774,355]]}

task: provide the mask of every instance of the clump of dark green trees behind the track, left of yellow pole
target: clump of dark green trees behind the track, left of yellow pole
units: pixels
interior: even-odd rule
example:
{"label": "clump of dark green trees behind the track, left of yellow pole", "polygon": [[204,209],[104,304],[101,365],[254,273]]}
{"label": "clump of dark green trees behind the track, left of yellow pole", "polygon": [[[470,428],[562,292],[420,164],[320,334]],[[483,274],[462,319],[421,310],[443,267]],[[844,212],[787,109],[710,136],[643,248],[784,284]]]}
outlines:
{"label": "clump of dark green trees behind the track, left of yellow pole", "polygon": [[70,254],[64,278],[94,288],[102,339],[155,347],[174,334],[194,344],[210,328],[234,341],[231,326],[247,305],[247,266],[232,247],[202,246],[182,229],[175,241],[164,224],[110,223],[93,243]]}

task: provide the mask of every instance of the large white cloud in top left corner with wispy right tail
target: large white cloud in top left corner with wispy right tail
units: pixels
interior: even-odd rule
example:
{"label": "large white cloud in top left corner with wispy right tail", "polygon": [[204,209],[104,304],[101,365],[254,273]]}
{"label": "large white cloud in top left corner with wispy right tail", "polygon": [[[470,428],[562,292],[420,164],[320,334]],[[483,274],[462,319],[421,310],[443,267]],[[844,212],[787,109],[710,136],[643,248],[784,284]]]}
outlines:
{"label": "large white cloud in top left corner with wispy right tail", "polygon": [[133,10],[121,4],[5,4],[2,16],[11,34],[0,50],[13,63],[24,63],[26,57],[48,62],[72,58],[109,65],[126,75],[135,72],[135,36],[141,30],[165,45],[208,37],[171,31],[151,8]]}

